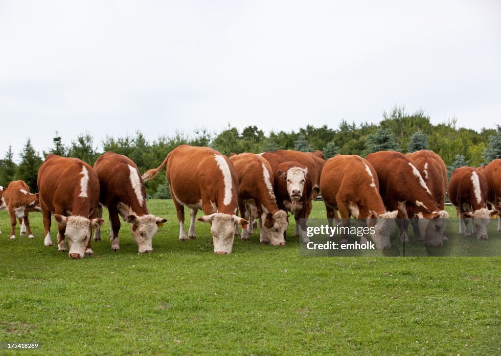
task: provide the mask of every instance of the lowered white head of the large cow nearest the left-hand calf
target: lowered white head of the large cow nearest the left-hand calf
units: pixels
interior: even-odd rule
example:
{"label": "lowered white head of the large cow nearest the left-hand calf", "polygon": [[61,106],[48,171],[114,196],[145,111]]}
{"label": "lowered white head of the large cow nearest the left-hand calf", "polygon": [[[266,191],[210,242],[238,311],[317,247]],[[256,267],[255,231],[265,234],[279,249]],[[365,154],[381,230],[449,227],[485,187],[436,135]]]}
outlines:
{"label": "lowered white head of the large cow nearest the left-hand calf", "polygon": [[58,224],[58,230],[64,231],[64,237],[68,238],[68,255],[70,258],[83,258],[87,244],[91,238],[92,229],[100,229],[103,219],[89,220],[82,216],[65,217],[55,214],[54,220]]}

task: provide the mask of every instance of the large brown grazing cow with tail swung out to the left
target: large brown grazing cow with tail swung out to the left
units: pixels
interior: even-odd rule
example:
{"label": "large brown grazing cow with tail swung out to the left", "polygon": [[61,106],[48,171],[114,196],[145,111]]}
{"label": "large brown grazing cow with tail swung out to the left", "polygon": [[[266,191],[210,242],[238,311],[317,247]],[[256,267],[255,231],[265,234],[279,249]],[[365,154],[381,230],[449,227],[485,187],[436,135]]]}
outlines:
{"label": "large brown grazing cow with tail swung out to the left", "polygon": [[[248,224],[247,220],[235,215],[238,176],[233,163],[210,147],[185,144],[174,148],[160,166],[146,171],[143,180],[153,179],[165,165],[179,222],[179,240],[195,238],[196,213],[202,209],[205,215],[197,220],[211,225],[214,253],[231,253],[235,224]],[[184,206],[191,210],[188,237],[184,230]]]}

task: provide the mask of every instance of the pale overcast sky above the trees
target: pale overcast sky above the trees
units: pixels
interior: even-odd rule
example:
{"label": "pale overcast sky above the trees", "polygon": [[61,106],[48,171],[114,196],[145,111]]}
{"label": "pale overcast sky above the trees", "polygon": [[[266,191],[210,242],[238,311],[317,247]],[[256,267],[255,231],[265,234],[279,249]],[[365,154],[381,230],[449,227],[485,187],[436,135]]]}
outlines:
{"label": "pale overcast sky above the trees", "polygon": [[497,0],[0,0],[0,157],[56,130],[337,128],[395,104],[493,128],[499,19]]}

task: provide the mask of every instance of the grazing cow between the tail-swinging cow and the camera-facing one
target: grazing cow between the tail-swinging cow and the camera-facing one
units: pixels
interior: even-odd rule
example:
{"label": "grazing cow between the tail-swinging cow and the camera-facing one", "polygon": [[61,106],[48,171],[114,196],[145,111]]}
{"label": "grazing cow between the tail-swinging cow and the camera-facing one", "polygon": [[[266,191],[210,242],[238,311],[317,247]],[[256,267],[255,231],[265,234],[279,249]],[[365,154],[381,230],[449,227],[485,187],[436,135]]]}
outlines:
{"label": "grazing cow between the tail-swinging cow and the camera-facing one", "polygon": [[[238,174],[238,210],[240,216],[249,221],[260,218],[260,242],[273,246],[284,246],[284,232],[287,230],[287,212],[279,210],[273,190],[273,171],[270,163],[254,153],[232,154],[229,159]],[[242,227],[242,240],[249,232]]]}

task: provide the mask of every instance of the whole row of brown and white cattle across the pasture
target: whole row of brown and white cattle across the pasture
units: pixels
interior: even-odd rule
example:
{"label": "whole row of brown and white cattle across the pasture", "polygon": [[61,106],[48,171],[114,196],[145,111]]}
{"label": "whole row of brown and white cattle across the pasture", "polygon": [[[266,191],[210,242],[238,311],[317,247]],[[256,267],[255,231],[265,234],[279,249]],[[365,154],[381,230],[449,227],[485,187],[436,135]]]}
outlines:
{"label": "whole row of brown and white cattle across the pasture", "polygon": [[[445,164],[429,150],[406,155],[380,151],[365,159],[338,154],[326,162],[321,151],[233,153],[228,158],[209,147],[181,145],[142,176],[131,159],[113,152],[104,153],[93,167],[78,158],[48,155],[38,171],[39,193],[31,194],[23,181],[0,187],[0,208],[9,211],[11,239],[15,239],[17,219],[21,235],[28,233],[33,238],[29,213],[41,211],[45,246],[53,245],[50,228],[54,215],[58,249],[68,251],[73,259],[91,256],[91,235],[94,231],[94,241],[101,240],[106,206],[112,250],[120,249],[120,215],[131,225],[139,252],[151,252],[152,238],[167,220],[148,213],[144,182],[154,179],[165,165],[179,240],[195,238],[196,214],[201,209],[205,215],[196,220],[211,225],[216,254],[231,252],[238,225],[241,239],[247,240],[256,221],[262,243],[284,246],[288,212],[296,219],[296,236],[309,241],[306,223],[312,200],[320,192],[329,224],[335,220],[347,226],[350,217],[359,219],[374,228],[370,238],[378,249],[391,248],[390,235],[397,225],[401,241],[409,241],[408,222],[416,240],[426,246],[442,246],[447,241],[446,192],[460,219],[459,233],[465,236],[471,234],[468,222],[472,218],[472,231],[478,239],[486,239],[490,219],[501,210],[501,159],[478,168],[455,169],[447,188]],[[190,209],[187,234],[185,206]],[[400,224],[395,224],[397,218],[402,219]],[[497,230],[501,232],[501,220]]]}

